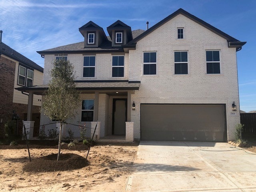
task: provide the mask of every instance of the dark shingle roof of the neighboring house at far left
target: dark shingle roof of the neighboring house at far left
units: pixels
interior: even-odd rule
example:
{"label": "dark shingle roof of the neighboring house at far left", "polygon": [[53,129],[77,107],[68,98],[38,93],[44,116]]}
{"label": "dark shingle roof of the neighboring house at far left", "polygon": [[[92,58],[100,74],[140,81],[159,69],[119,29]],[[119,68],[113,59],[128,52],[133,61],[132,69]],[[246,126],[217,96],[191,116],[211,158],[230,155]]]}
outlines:
{"label": "dark shingle roof of the neighboring house at far left", "polygon": [[32,60],[26,58],[19,52],[13,50],[12,48],[10,48],[8,45],[4,44],[3,42],[0,42],[0,54],[4,54],[18,62],[21,62],[31,68],[34,68],[40,72],[44,72],[44,68],[40,67],[38,64],[36,64]]}

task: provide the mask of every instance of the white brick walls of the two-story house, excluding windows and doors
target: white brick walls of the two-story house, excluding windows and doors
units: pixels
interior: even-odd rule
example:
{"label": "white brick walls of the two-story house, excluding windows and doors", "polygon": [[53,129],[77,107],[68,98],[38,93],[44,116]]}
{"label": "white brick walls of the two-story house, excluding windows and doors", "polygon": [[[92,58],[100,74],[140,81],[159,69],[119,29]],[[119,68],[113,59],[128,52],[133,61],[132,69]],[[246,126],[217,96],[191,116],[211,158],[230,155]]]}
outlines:
{"label": "white brick walls of the two-story house, excluding windows and doors", "polygon": [[[177,39],[177,28],[184,28],[184,39]],[[206,73],[206,50],[220,51],[220,74]],[[156,52],[156,75],[143,75],[143,52]],[[174,51],[188,52],[188,74],[174,74]],[[236,64],[236,48],[228,48],[227,40],[200,24],[179,14],[156,30],[139,40],[136,50],[121,54],[125,57],[124,77],[112,78],[112,54],[96,53],[95,77],[83,78],[83,54],[68,54],[68,60],[74,64],[76,80],[129,80],[140,81],[139,90],[131,94],[131,101],[136,104],[136,110],[131,110],[131,122],[126,122],[126,134],[140,139],[140,104],[226,104],[226,126],[228,140],[234,139],[234,129],[240,123],[238,77]],[[55,56],[45,55],[44,84],[50,80],[49,71]],[[94,94],[81,94],[83,99],[94,99]],[[98,121],[100,122],[100,137],[112,134],[112,102],[113,96],[99,94]],[[235,102],[237,112],[232,111]],[[72,120],[74,124],[81,122],[81,108]],[[51,121],[44,115],[40,124]],[[48,127],[55,127],[52,124]],[[87,135],[91,135],[90,122],[86,123]],[[74,137],[79,138],[78,127],[72,127]],[[49,129],[48,128],[48,129]],[[47,130],[47,128],[46,128]],[[66,131],[66,130],[64,130]],[[130,136],[129,135],[129,136]],[[129,138],[130,140],[131,138]]]}

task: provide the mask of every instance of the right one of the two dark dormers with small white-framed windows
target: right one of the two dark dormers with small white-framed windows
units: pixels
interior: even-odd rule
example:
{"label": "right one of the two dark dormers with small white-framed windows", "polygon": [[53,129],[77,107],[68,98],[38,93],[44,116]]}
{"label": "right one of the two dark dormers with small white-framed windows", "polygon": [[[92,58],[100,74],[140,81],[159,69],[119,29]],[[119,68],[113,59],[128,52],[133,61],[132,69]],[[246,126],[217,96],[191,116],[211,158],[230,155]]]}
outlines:
{"label": "right one of the two dark dormers with small white-framed windows", "polygon": [[112,47],[125,45],[132,40],[131,27],[120,20],[107,27],[107,30],[112,39]]}

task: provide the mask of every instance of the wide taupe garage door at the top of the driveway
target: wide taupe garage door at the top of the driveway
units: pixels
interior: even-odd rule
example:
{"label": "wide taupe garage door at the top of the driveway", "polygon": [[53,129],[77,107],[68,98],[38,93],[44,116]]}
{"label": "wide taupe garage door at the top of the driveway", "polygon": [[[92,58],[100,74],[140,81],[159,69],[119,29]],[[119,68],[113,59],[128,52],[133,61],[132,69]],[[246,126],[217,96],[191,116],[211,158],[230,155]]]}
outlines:
{"label": "wide taupe garage door at the top of the driveway", "polygon": [[226,141],[224,104],[141,104],[141,140]]}

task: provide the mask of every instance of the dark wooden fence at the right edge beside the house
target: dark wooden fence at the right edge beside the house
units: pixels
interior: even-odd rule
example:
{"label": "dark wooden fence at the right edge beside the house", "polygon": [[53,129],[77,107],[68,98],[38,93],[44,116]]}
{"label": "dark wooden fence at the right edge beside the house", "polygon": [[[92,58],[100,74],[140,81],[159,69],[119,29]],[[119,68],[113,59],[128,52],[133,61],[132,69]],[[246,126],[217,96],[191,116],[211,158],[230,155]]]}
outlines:
{"label": "dark wooden fence at the right edge beside the house", "polygon": [[256,113],[241,113],[240,121],[244,125],[243,136],[256,135]]}

